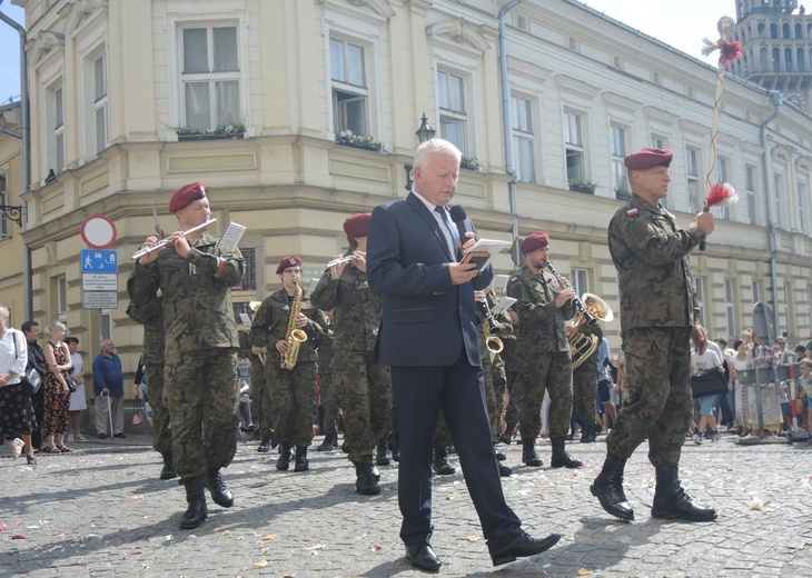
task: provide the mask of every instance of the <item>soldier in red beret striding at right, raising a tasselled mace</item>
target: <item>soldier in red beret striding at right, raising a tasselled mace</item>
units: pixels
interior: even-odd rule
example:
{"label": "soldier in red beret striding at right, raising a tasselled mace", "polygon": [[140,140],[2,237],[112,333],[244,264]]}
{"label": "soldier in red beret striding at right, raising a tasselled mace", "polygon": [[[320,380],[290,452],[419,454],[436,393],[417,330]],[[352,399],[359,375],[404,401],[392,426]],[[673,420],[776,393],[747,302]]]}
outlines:
{"label": "soldier in red beret striding at right, raising a tasselled mace", "polygon": [[694,502],[680,482],[680,454],[691,423],[691,341],[707,347],[700,325],[691,250],[714,220],[701,212],[685,228],[661,205],[669,193],[673,153],[643,149],[625,158],[632,198],[612,218],[608,246],[621,291],[621,335],[628,399],[606,438],[606,459],[591,487],[611,515],[634,519],[623,491],[626,460],[648,439],[656,487],[652,517],[711,521],[716,510]]}

